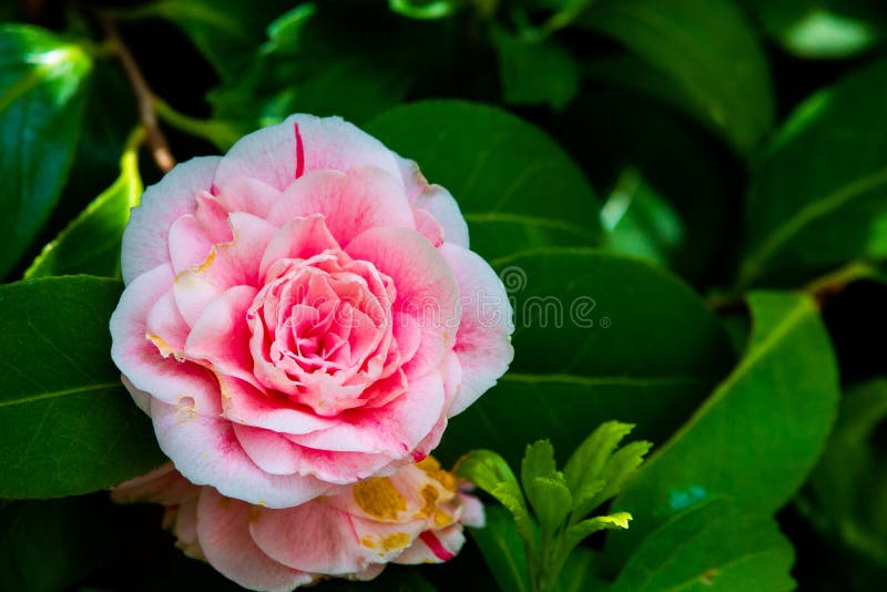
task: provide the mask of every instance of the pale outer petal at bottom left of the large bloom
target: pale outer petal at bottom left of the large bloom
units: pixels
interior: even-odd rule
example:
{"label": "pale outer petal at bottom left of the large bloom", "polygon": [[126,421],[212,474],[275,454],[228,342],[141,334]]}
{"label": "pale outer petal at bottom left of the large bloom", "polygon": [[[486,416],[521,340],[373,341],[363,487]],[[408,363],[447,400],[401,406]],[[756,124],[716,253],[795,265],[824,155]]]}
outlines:
{"label": "pale outer petal at bottom left of the large bloom", "polygon": [[263,471],[246,455],[226,419],[177,417],[172,406],[156,399],[151,404],[151,418],[161,450],[195,484],[213,486],[225,496],[268,508],[304,503],[330,487],[312,477]]}

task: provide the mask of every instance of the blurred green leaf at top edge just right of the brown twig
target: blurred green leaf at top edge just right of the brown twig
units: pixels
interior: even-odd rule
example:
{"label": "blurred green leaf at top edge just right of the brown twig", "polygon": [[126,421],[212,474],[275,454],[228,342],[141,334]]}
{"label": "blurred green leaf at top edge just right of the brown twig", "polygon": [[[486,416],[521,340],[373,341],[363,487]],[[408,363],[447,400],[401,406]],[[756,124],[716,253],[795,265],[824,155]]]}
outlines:
{"label": "blurred green leaf at top edge just right of the brown twig", "polygon": [[119,18],[155,17],[177,24],[223,79],[236,76],[264,41],[265,27],[286,9],[277,0],[159,0]]}

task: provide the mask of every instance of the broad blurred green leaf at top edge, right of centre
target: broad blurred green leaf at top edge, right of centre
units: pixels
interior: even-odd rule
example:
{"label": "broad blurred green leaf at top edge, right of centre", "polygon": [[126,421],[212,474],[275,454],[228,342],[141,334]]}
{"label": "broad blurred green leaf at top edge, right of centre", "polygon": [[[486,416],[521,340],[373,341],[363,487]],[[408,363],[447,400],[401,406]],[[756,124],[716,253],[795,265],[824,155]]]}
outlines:
{"label": "broad blurred green leaf at top edge, right of centre", "polygon": [[684,110],[744,155],[769,131],[774,99],[754,31],[731,0],[602,0],[577,24],[622,42],[666,74]]}

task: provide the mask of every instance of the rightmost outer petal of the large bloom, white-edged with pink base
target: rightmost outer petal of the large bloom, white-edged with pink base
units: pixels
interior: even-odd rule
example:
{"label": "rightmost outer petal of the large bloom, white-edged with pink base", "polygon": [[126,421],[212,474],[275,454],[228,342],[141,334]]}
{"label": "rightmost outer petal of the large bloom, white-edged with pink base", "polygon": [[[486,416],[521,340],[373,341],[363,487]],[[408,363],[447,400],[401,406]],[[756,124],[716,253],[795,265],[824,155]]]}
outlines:
{"label": "rightmost outer petal of the large bloom, white-edged with pink base", "polygon": [[478,254],[445,244],[440,253],[456,273],[462,318],[453,351],[459,356],[462,380],[449,417],[463,411],[508,369],[514,357],[511,304],[496,272]]}

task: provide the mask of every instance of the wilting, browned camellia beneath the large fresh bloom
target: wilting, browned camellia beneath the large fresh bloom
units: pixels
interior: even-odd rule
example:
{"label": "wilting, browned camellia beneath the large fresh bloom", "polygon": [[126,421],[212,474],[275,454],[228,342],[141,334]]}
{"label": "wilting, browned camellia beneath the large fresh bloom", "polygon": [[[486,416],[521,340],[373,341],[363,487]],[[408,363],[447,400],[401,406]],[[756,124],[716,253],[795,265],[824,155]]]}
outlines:
{"label": "wilting, browned camellia beneath the large fresh bloom", "polygon": [[268,509],[197,487],[166,465],[118,487],[122,503],[166,506],[164,525],[185,554],[254,590],[293,590],[320,578],[369,580],[387,563],[440,563],[483,525],[477,498],[428,457],[296,508]]}

